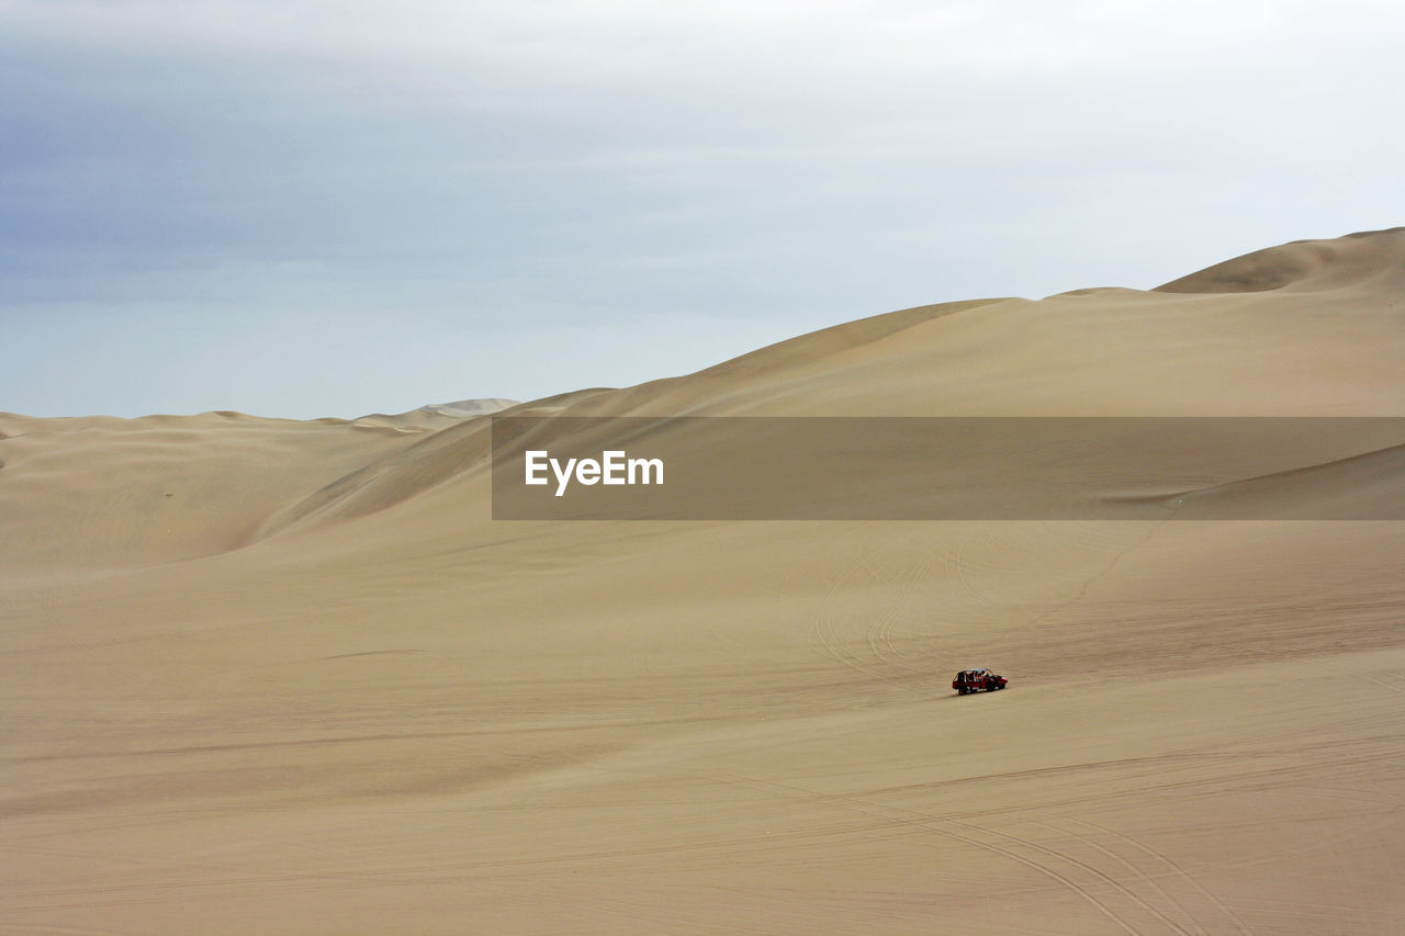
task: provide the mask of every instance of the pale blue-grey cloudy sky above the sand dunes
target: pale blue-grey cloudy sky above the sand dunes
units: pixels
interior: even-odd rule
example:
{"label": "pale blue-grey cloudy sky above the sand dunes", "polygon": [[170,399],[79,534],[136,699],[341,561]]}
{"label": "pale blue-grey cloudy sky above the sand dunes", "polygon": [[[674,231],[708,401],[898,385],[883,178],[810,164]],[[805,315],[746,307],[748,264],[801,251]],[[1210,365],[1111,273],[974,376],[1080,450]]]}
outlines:
{"label": "pale blue-grey cloudy sky above the sand dunes", "polygon": [[0,410],[535,399],[1395,226],[1402,10],[0,0]]}

